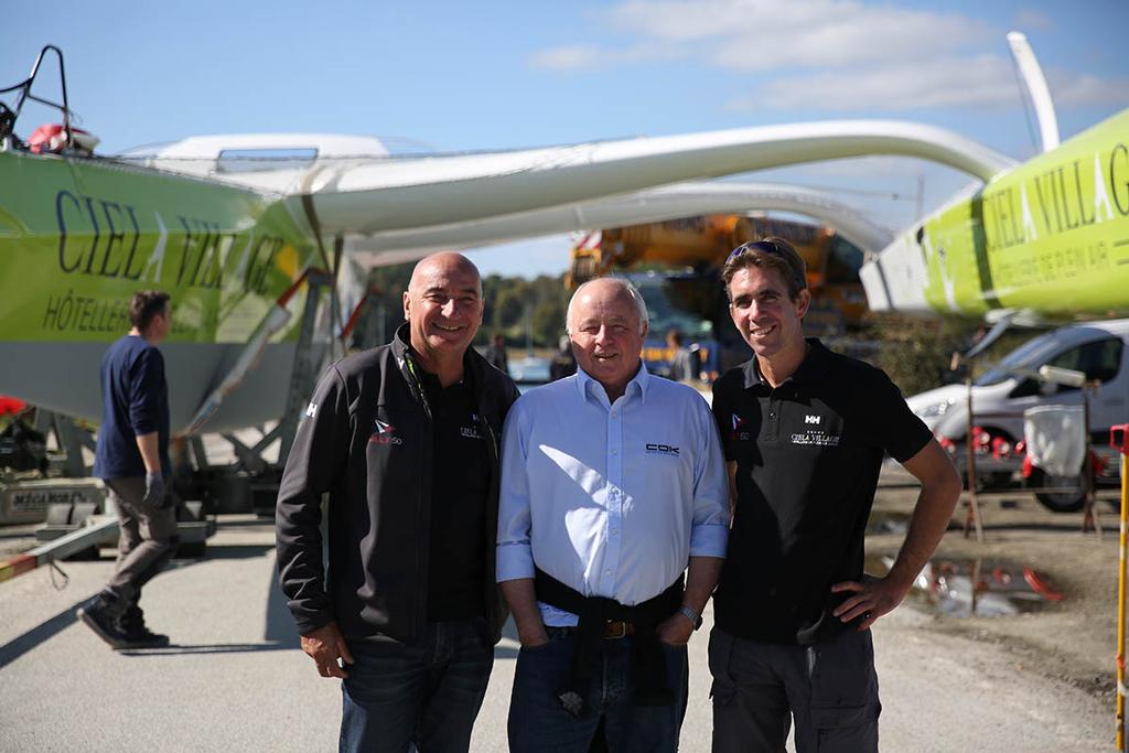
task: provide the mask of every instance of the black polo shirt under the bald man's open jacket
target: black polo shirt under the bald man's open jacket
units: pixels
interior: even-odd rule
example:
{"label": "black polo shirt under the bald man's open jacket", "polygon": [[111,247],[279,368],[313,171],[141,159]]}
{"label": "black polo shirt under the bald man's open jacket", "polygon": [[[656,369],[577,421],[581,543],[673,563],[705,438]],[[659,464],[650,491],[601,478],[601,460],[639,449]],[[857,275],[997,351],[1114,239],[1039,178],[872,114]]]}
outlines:
{"label": "black polo shirt under the bald man's open jacket", "polygon": [[431,408],[435,475],[431,480],[431,540],[428,546],[428,619],[457,620],[484,614],[487,494],[490,455],[474,404],[470,371],[443,387],[425,373]]}

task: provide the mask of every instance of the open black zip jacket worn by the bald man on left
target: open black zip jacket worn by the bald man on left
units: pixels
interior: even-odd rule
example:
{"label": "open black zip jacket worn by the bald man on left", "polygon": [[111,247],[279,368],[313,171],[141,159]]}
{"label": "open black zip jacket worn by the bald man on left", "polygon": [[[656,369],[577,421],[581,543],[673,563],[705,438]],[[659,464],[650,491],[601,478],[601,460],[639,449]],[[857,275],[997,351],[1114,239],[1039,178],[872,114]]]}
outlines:
{"label": "open black zip jacket worn by the bald man on left", "polygon": [[[345,638],[409,641],[427,622],[434,467],[419,364],[401,326],[393,342],[350,356],[322,377],[279,488],[278,568],[298,631],[336,620]],[[483,594],[495,642],[506,607],[495,583],[498,446],[514,382],[469,348],[465,368],[489,435]],[[322,562],[322,494],[329,492],[329,573]]]}

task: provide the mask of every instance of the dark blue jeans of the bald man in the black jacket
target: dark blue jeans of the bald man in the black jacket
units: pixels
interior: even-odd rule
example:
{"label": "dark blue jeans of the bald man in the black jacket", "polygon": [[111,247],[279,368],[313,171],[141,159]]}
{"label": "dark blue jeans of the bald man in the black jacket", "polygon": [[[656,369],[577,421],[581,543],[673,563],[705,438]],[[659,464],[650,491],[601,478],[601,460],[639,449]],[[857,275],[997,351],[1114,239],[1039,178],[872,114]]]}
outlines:
{"label": "dark blue jeans of the bald man in the black jacket", "polygon": [[349,642],[341,751],[466,751],[493,668],[482,619],[429,622],[410,643]]}

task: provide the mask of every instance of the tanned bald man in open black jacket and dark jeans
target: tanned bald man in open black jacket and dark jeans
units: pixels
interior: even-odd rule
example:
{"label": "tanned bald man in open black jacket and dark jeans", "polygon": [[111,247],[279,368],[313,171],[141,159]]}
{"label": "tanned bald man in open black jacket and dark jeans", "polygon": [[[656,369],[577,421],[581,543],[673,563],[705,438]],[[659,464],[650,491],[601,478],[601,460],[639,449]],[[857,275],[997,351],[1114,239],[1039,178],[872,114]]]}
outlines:
{"label": "tanned bald man in open black jacket and dark jeans", "polygon": [[498,441],[517,387],[470,347],[482,282],[465,256],[422,260],[403,304],[393,341],[334,364],[298,426],[279,577],[303,650],[343,681],[340,750],[466,751],[506,620]]}

